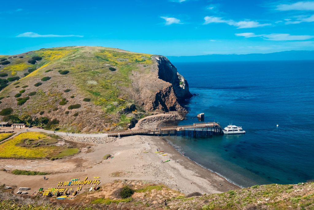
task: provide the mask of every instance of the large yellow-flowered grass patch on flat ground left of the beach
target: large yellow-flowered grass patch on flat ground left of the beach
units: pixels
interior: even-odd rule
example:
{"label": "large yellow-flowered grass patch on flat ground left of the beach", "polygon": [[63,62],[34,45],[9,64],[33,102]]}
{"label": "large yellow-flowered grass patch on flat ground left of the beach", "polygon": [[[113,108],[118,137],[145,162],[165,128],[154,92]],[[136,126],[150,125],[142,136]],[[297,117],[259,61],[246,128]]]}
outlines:
{"label": "large yellow-flowered grass patch on flat ground left of the beach", "polygon": [[43,132],[25,132],[0,144],[0,158],[41,159],[65,157],[78,148],[55,146],[57,136]]}

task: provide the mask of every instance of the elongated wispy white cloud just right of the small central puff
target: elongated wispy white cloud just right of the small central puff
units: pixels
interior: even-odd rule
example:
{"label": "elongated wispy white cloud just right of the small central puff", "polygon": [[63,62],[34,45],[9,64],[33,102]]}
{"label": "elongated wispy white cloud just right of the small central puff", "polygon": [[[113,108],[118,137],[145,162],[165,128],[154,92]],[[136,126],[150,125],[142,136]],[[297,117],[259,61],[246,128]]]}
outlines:
{"label": "elongated wispy white cloud just right of the small central puff", "polygon": [[206,16],[204,18],[205,22],[204,24],[210,24],[210,23],[226,23],[228,25],[236,26],[238,27],[237,29],[247,29],[247,28],[257,28],[257,27],[263,27],[263,26],[268,26],[271,24],[265,23],[265,24],[260,24],[257,21],[252,21],[252,20],[243,20],[243,21],[234,21],[234,20],[224,20],[221,17],[214,17],[214,16]]}

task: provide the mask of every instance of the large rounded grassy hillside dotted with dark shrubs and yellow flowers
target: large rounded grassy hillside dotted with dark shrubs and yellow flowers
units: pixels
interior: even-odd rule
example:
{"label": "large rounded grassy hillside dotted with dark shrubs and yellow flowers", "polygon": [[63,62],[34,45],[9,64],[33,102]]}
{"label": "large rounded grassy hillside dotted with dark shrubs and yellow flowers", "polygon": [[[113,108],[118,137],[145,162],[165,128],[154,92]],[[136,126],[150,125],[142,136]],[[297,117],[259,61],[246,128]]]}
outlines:
{"label": "large rounded grassy hillside dotted with dark shrubs and yellow flowers", "polygon": [[34,124],[30,118],[40,118],[39,121],[56,118],[58,123],[49,126],[50,129],[71,132],[127,129],[133,119],[149,115],[143,110],[141,98],[154,98],[157,92],[152,87],[143,91],[147,97],[139,96],[143,89],[138,88],[139,78],[151,78],[152,83],[157,80],[156,84],[162,84],[160,89],[169,85],[153,73],[157,63],[151,56],[84,46],[3,56],[1,107],[12,107],[10,115],[18,116],[19,120],[6,115],[0,116],[0,120]]}

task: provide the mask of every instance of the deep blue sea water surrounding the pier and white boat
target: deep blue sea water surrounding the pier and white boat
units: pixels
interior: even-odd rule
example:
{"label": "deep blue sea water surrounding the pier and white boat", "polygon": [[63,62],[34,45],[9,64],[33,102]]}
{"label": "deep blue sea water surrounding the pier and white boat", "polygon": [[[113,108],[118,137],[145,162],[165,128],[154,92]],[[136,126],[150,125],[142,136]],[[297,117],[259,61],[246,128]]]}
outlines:
{"label": "deep blue sea water surrounding the pier and white boat", "polygon": [[[245,135],[168,137],[239,186],[314,179],[314,61],[174,63],[188,81],[187,119],[242,126]],[[279,127],[276,125],[279,124]]]}

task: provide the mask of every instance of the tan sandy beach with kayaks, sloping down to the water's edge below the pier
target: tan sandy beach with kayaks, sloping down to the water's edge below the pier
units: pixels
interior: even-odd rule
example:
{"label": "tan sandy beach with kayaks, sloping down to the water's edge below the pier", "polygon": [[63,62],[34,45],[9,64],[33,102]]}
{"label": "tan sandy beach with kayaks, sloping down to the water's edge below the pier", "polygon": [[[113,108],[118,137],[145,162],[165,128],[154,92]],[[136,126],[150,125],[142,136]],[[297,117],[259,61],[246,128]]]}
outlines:
{"label": "tan sandy beach with kayaks, sloping down to the water's edge below the pier", "polygon": [[[0,171],[0,183],[6,186],[30,187],[31,191],[35,191],[40,187],[57,187],[59,181],[84,179],[86,176],[93,179],[92,177],[99,176],[101,184],[123,179],[147,180],[165,184],[184,194],[219,193],[239,188],[184,157],[162,137],[129,136],[111,143],[78,144],[82,147],[80,153],[54,161],[0,159],[0,169],[7,170]],[[167,155],[156,154],[157,148],[164,150]],[[148,153],[143,153],[144,151]],[[114,158],[103,160],[105,154],[111,154]],[[161,163],[162,160],[169,159],[169,162]],[[13,175],[9,171],[14,169],[52,174],[46,175],[48,180],[43,180],[43,176],[38,175]]]}

